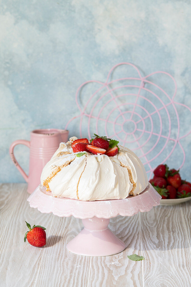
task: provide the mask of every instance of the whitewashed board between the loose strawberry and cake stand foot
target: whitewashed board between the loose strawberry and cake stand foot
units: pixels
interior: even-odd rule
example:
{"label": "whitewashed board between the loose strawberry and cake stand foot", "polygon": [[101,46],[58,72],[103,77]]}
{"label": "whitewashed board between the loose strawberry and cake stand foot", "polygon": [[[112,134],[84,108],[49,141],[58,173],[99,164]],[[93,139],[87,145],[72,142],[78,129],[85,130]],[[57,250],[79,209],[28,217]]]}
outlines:
{"label": "whitewashed board between the loose strawberry and cake stand foot", "polygon": [[87,286],[91,258],[73,254],[66,248],[67,243],[81,231],[82,226],[81,220],[73,216],[54,216],[50,236],[52,239],[44,249],[35,287]]}

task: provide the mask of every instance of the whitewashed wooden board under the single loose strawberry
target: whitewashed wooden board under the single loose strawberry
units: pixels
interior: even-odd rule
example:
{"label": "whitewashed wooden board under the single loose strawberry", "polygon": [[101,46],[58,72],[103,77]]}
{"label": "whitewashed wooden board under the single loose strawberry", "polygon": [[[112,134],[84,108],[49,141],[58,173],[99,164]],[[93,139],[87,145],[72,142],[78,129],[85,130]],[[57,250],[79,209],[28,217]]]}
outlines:
{"label": "whitewashed wooden board under the single loose strawberry", "polygon": [[[15,189],[14,192],[17,190]],[[1,238],[0,285],[33,286],[43,254],[43,247],[36,248],[24,243],[24,234],[28,230],[25,220],[32,224],[48,227],[51,225],[50,214],[41,214],[30,208],[27,201],[29,194],[23,192],[22,199],[15,204],[13,214],[9,217],[8,228]]]}

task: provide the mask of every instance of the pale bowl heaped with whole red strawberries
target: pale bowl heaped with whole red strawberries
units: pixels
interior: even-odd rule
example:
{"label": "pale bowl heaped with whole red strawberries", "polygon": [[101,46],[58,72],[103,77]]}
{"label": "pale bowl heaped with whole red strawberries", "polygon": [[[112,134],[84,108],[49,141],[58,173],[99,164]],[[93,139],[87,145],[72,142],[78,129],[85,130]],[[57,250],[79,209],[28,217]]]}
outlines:
{"label": "pale bowl heaped with whole red strawberries", "polygon": [[181,179],[179,170],[160,164],[153,173],[149,182],[161,195],[161,205],[173,205],[191,199],[191,183]]}

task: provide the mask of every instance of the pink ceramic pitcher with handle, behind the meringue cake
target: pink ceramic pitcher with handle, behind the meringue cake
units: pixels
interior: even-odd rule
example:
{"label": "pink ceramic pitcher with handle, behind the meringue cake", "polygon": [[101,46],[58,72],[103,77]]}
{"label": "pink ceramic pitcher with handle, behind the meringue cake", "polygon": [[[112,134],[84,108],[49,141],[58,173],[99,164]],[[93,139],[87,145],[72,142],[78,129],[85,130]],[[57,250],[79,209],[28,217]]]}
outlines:
{"label": "pink ceramic pitcher with handle, behind the meringue cake", "polygon": [[[28,193],[32,193],[40,184],[40,175],[45,164],[59,148],[60,142],[67,142],[67,130],[36,129],[30,133],[30,141],[19,139],[13,141],[9,153],[16,168],[28,183]],[[29,175],[27,175],[15,159],[13,150],[17,144],[24,144],[30,148]]]}

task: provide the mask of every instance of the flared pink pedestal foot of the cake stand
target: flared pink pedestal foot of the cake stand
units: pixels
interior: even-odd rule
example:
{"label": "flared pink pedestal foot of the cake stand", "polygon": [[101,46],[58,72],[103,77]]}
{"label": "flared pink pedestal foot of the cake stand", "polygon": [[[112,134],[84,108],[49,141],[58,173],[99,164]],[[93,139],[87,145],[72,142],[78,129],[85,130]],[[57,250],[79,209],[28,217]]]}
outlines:
{"label": "flared pink pedestal foot of the cake stand", "polygon": [[125,244],[109,229],[109,219],[93,217],[82,219],[84,229],[73,238],[67,249],[84,256],[108,256],[125,249]]}

